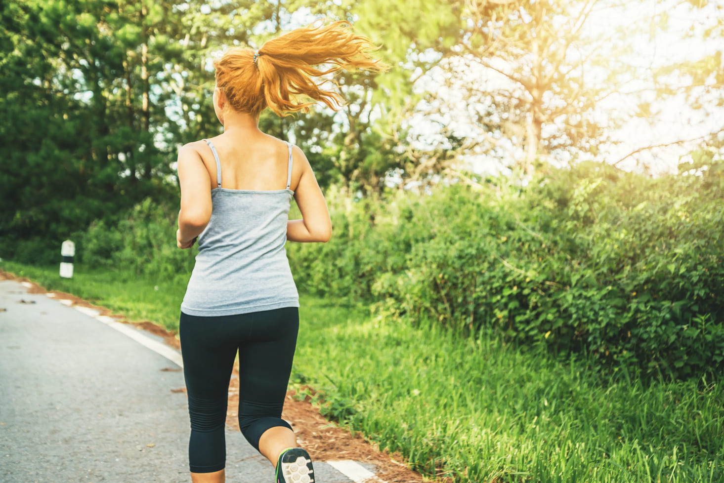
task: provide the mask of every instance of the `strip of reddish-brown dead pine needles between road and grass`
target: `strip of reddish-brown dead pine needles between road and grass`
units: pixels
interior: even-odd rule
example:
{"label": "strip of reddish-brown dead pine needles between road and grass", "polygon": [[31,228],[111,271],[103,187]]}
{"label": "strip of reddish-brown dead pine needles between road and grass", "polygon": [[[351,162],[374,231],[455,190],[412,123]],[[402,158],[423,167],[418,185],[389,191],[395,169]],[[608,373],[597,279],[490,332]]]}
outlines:
{"label": "strip of reddish-brown dead pine needles between road and grass", "polygon": [[[31,294],[47,294],[45,288],[37,283],[28,280],[28,278],[17,277],[12,273],[0,270],[0,281],[13,280],[18,282],[30,283],[28,291]],[[59,291],[51,291],[55,299],[66,299],[72,302],[72,305],[80,307],[89,307],[98,310],[101,315],[113,317],[117,322],[135,325],[139,329],[146,330],[154,335],[159,335],[166,341],[169,346],[174,349],[180,349],[180,342],[176,334],[161,328],[148,320],[135,321],[127,320],[123,315],[115,314],[105,307],[91,304],[79,297],[66,294]],[[181,370],[181,369],[178,369]],[[185,388],[175,391],[185,391]],[[412,471],[405,466],[405,460],[399,453],[390,454],[387,451],[380,451],[379,447],[365,440],[361,435],[355,436],[350,434],[349,429],[340,427],[334,422],[324,419],[319,414],[319,409],[313,406],[308,397],[304,401],[299,401],[295,396],[295,391],[287,391],[287,398],[284,404],[282,418],[292,424],[298,442],[306,450],[314,460],[317,461],[336,461],[336,460],[352,460],[361,463],[370,463],[377,466],[377,477],[388,483],[417,483],[429,481],[416,471]],[[227,411],[227,427],[239,429],[237,419],[237,408],[239,405],[239,377],[238,370],[235,367],[229,385],[229,406]],[[450,479],[437,479],[439,482],[449,482]]]}

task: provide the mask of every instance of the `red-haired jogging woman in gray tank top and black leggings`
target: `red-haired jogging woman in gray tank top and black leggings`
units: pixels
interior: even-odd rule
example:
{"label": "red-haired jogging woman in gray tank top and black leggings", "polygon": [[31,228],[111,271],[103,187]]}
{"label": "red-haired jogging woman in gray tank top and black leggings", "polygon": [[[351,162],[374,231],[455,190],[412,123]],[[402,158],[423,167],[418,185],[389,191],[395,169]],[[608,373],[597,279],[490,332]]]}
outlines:
{"label": "red-haired jogging woman in gray tank top and black leggings", "polygon": [[[301,111],[342,98],[319,77],[379,70],[368,39],[346,22],[293,30],[258,51],[214,62],[214,111],[224,133],[178,156],[179,248],[198,255],[181,304],[180,338],[191,420],[194,483],[224,482],[227,391],[239,353],[239,425],[276,468],[279,483],[311,483],[306,450],[281,419],[299,327],[285,242],[327,242],[332,224],[304,153],[258,128],[259,114]],[[324,66],[317,68],[316,66]],[[302,219],[290,221],[294,197]]]}

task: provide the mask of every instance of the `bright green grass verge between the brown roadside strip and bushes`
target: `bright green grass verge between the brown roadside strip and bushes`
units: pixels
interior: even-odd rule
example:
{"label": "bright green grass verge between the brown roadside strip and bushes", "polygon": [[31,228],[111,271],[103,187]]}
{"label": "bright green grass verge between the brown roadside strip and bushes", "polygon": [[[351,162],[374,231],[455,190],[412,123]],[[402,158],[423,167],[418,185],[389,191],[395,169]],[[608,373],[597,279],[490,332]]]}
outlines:
{"label": "bright green grass verge between the brown roadside strip and bushes", "polygon": [[[177,327],[185,277],[162,283],[0,262],[132,320]],[[155,287],[158,286],[158,290]],[[719,380],[603,377],[496,339],[369,316],[303,296],[292,383],[327,416],[460,482],[722,482]]]}

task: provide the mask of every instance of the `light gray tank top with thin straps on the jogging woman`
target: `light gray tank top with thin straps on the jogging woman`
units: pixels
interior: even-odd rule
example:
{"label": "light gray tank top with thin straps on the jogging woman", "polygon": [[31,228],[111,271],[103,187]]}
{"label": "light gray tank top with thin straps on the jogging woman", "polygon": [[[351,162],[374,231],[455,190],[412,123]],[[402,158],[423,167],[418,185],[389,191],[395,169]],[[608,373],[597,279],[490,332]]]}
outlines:
{"label": "light gray tank top with thin straps on the jogging woman", "polygon": [[287,220],[292,200],[292,145],[287,188],[269,191],[222,188],[216,160],[211,220],[198,236],[198,255],[181,310],[188,315],[236,315],[299,307],[287,260]]}

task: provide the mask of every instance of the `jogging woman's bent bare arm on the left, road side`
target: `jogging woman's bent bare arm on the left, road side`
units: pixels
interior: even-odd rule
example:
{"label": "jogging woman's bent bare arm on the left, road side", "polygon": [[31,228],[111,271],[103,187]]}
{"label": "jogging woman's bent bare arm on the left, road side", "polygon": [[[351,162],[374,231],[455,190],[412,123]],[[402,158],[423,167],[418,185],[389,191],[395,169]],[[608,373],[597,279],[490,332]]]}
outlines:
{"label": "jogging woman's bent bare arm on the left, road side", "polygon": [[190,145],[182,146],[179,150],[177,169],[181,210],[176,245],[183,249],[193,246],[195,238],[211,219],[211,178],[201,155]]}

